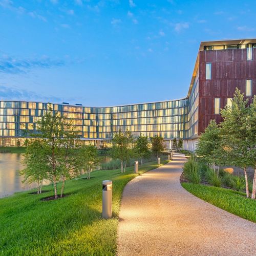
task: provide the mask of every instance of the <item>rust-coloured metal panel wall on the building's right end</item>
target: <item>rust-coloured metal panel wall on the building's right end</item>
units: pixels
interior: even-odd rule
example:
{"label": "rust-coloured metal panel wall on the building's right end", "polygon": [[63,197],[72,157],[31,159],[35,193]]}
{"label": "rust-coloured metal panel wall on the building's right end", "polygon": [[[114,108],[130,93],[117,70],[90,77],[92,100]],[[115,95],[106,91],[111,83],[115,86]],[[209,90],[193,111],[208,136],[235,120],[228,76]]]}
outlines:
{"label": "rust-coloured metal panel wall on the building's right end", "polygon": [[[214,114],[215,98],[220,98],[223,109],[227,98],[232,98],[236,88],[245,93],[246,79],[252,79],[252,95],[256,94],[256,49],[252,60],[247,60],[247,49],[201,51],[199,63],[199,134],[204,132],[211,119],[221,122]],[[205,64],[211,63],[211,79],[205,79]],[[250,100],[252,97],[248,97]]]}

